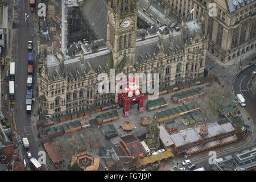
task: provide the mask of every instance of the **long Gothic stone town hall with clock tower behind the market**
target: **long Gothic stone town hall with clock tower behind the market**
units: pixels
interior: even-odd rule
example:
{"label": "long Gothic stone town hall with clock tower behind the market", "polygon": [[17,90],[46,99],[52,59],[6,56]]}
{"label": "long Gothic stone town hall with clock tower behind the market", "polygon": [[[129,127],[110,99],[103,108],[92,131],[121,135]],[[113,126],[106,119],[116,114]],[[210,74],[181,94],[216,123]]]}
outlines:
{"label": "long Gothic stone town hall with clock tower behind the market", "polygon": [[[197,20],[173,29],[161,26],[151,34],[137,30],[134,1],[109,2],[104,40],[72,44],[71,54],[48,54],[39,68],[39,110],[59,116],[112,101],[118,94],[98,93],[100,73],[159,73],[160,88],[204,76],[208,42]],[[128,23],[128,27],[126,27]],[[70,48],[71,49],[71,48]],[[140,83],[141,84],[141,83]]]}

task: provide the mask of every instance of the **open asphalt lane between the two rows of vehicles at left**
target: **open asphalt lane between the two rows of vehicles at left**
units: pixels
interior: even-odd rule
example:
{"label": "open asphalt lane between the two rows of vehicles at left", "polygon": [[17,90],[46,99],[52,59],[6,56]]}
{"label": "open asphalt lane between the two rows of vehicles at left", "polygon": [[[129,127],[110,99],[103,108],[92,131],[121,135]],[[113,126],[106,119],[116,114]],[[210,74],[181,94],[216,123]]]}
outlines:
{"label": "open asphalt lane between the two rows of vehicles at left", "polygon": [[[16,92],[16,106],[17,114],[16,123],[17,123],[17,133],[20,134],[22,138],[27,137],[30,142],[30,148],[23,148],[22,152],[24,156],[27,156],[26,152],[30,151],[31,155],[38,159],[38,144],[35,142],[32,123],[30,121],[29,115],[26,113],[26,94],[27,94],[27,42],[31,40],[34,30],[31,30],[34,27],[32,24],[32,16],[30,11],[26,11],[28,3],[23,3],[24,10],[20,9],[20,27],[19,27],[19,47],[18,47],[18,57],[19,61],[17,64],[17,87],[18,92]],[[27,7],[27,8],[26,8]],[[27,13],[30,17],[25,22],[24,14]],[[45,168],[43,168],[44,170]]]}

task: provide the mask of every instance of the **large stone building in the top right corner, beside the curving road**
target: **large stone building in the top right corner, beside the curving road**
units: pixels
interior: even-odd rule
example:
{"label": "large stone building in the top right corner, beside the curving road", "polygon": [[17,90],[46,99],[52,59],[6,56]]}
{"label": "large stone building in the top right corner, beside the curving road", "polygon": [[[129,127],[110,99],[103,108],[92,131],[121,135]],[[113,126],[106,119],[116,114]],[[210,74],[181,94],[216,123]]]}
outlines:
{"label": "large stone building in the top right corner, beside the curving road", "polygon": [[[161,0],[159,2],[164,5],[165,14],[172,13],[186,19],[192,18],[191,10],[195,7],[195,18],[201,19],[204,33],[209,39],[208,51],[224,63],[255,49],[256,1],[254,0]],[[217,16],[209,15],[212,9],[209,7],[210,3],[216,4]]]}

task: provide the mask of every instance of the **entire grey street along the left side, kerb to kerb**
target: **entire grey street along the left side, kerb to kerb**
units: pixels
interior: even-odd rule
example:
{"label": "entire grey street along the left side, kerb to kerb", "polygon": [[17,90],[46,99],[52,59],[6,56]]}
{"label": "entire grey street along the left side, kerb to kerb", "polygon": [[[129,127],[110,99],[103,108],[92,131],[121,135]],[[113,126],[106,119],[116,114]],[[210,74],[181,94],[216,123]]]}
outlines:
{"label": "entire grey street along the left side, kerb to kerb", "polygon": [[[27,43],[29,40],[34,42],[34,49],[37,49],[37,26],[38,23],[32,22],[36,19],[36,12],[31,13],[29,1],[19,1],[19,9],[14,9],[14,12],[19,16],[14,16],[14,31],[13,42],[17,42],[16,47],[13,48],[13,61],[15,61],[15,105],[11,106],[11,113],[13,113],[16,124],[16,135],[20,138],[28,138],[30,147],[22,150],[22,155],[28,164],[27,151],[30,151],[32,157],[38,159],[40,143],[36,143],[34,138],[34,130],[36,123],[31,123],[31,117],[26,113],[26,94],[27,94],[27,65],[28,65],[28,49]],[[25,15],[27,14],[27,15]],[[34,55],[34,64],[36,64],[36,56]],[[34,77],[35,74],[34,65]],[[35,95],[33,97],[36,97]],[[20,155],[20,154],[19,154]],[[32,168],[31,168],[32,169]],[[43,170],[46,168],[43,165]]]}

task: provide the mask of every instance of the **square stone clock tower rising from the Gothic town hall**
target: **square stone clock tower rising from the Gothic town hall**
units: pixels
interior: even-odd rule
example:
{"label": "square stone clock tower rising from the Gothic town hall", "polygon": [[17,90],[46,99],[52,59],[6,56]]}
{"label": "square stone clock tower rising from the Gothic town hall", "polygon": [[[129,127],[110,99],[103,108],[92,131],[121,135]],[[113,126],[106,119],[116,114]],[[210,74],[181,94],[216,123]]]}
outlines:
{"label": "square stone clock tower rising from the Gothic town hall", "polygon": [[137,16],[137,0],[109,0],[106,44],[115,69],[125,56],[135,63]]}

